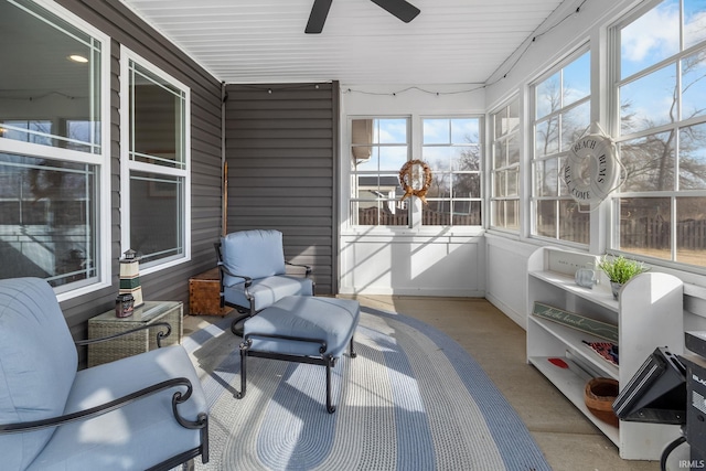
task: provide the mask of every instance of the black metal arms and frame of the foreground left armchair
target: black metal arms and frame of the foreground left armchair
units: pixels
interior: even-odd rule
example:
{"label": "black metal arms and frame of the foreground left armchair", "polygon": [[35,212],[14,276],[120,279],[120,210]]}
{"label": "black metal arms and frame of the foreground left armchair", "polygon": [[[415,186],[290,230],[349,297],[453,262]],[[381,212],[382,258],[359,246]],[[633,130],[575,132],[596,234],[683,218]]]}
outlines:
{"label": "black metal arms and frame of the foreground left armchair", "polygon": [[[76,346],[85,346],[92,343],[106,342],[113,339],[120,338],[122,335],[128,335],[133,332],[138,332],[146,329],[152,329],[156,327],[167,328],[165,333],[161,329],[158,330],[157,332],[157,345],[158,347],[160,347],[161,341],[164,338],[169,336],[172,331],[172,327],[168,322],[156,322],[150,325],[141,325],[136,329],[130,329],[114,335],[103,336],[98,339],[79,340],[79,341],[74,341],[74,343],[76,344]],[[183,387],[186,388],[185,392],[182,390]],[[63,416],[52,417],[43,420],[33,420],[33,421],[26,421],[26,422],[4,424],[4,425],[0,424],[0,435],[22,433],[22,432],[39,430],[39,429],[49,428],[49,427],[57,427],[64,424],[71,424],[78,420],[87,420],[87,419],[110,413],[113,410],[117,410],[120,407],[135,403],[142,397],[151,396],[162,390],[168,390],[173,388],[180,388],[172,396],[172,414],[174,415],[174,419],[176,420],[176,422],[179,422],[180,426],[184,428],[201,429],[201,445],[196,448],[192,448],[174,457],[171,457],[170,459],[162,461],[161,463],[150,468],[148,471],[168,471],[190,460],[193,460],[199,456],[201,456],[202,462],[205,464],[208,462],[208,416],[202,413],[197,416],[196,420],[188,420],[183,418],[178,410],[178,406],[189,400],[193,392],[193,386],[191,382],[185,377],[176,377],[176,378],[167,379],[160,383],[156,383],[151,386],[148,386],[135,393],[131,393],[126,396],[119,397],[117,399],[110,400],[108,403],[101,404],[100,406],[92,407],[89,409],[81,410],[77,413],[66,414]]]}

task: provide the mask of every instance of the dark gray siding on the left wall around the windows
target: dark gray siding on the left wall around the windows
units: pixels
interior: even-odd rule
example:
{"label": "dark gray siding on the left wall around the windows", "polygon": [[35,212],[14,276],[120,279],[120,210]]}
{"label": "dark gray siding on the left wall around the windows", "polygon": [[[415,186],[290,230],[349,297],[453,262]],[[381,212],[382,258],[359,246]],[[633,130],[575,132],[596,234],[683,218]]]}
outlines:
{"label": "dark gray siding on the left wall around the windows", "polygon": [[146,300],[180,300],[189,307],[189,277],[215,266],[213,243],[221,234],[221,83],[174,47],[119,0],[57,0],[56,3],[110,35],[110,205],[113,286],[62,303],[76,339],[86,336],[87,319],[111,309],[118,292],[120,257],[120,44],[191,88],[191,250],[190,263],[142,276]]}

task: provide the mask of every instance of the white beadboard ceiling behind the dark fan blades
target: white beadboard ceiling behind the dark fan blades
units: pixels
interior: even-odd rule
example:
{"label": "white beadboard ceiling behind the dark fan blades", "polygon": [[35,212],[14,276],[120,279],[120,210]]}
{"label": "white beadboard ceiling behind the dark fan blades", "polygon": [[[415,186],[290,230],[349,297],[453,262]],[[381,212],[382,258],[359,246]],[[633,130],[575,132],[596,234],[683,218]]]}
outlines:
{"label": "white beadboard ceiling behind the dark fan blades", "polygon": [[[370,0],[121,0],[226,83],[482,84],[561,0],[409,0],[404,23]],[[570,0],[566,0],[567,2]]]}

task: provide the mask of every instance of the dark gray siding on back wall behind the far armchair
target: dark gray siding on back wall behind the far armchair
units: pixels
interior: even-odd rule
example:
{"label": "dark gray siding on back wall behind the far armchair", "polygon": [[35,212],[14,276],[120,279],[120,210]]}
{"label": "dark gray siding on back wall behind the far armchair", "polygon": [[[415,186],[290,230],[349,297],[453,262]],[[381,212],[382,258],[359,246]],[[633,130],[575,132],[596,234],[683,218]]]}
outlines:
{"label": "dark gray siding on back wall behind the far armchair", "polygon": [[227,232],[281,231],[285,257],[312,266],[317,293],[335,293],[339,84],[226,92]]}

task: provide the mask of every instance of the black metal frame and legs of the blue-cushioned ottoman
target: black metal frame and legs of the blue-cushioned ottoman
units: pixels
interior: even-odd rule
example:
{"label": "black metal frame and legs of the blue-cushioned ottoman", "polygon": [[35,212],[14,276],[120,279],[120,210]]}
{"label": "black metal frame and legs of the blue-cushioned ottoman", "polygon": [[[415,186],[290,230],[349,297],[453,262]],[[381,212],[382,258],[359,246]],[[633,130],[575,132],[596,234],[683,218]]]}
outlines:
{"label": "black metal frame and legs of the blue-cushioned ottoman", "polygon": [[[263,339],[263,340],[288,340],[288,341],[297,341],[297,342],[308,342],[314,343],[319,345],[319,352],[321,356],[306,356],[306,355],[289,355],[285,353],[276,353],[269,351],[259,351],[253,350],[253,338]],[[351,335],[350,346],[349,346],[349,356],[351,358],[355,358],[357,354],[353,349],[353,338]],[[260,334],[260,333],[248,333],[243,338],[243,342],[240,343],[240,390],[236,392],[235,397],[237,399],[242,399],[245,397],[245,393],[247,392],[247,357],[256,356],[260,358],[271,358],[271,360],[282,360],[286,362],[296,362],[296,363],[307,363],[312,365],[323,365],[327,368],[327,410],[329,414],[335,413],[335,406],[333,405],[333,398],[331,393],[331,370],[335,367],[336,357],[331,355],[324,355],[327,351],[327,342],[324,340],[317,339],[304,339],[299,336],[288,336],[288,335],[274,335],[274,334]]]}

